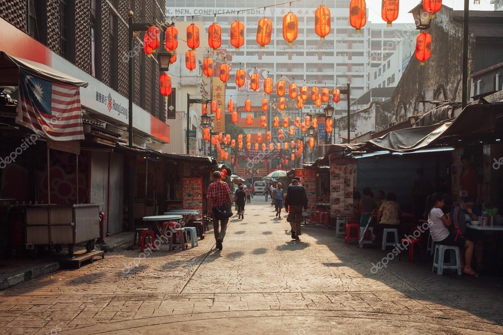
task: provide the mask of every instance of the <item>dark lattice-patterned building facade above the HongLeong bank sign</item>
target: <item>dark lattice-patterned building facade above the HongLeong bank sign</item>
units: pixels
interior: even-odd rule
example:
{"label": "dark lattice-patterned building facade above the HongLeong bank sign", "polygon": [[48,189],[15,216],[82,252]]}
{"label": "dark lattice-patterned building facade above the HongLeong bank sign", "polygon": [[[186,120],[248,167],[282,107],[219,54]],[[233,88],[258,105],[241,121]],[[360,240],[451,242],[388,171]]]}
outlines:
{"label": "dark lattice-patterned building facade above the HongLeong bank sign", "polygon": [[[129,3],[135,22],[164,21],[164,0],[0,0],[0,17],[127,97]],[[134,41],[134,103],[164,121],[158,65],[143,53],[142,36]]]}

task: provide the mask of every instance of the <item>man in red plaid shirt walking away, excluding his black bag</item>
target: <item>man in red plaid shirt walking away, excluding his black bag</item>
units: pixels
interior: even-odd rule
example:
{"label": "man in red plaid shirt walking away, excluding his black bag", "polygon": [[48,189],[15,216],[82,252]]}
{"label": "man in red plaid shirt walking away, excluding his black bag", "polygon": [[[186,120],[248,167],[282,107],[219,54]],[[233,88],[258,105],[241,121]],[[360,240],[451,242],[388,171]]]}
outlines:
{"label": "man in red plaid shirt walking away, excluding his black bag", "polygon": [[[221,181],[222,175],[220,171],[213,172],[213,179],[215,180],[208,186],[208,192],[206,195],[208,197],[208,216],[213,214],[213,207],[218,207],[224,203],[228,203],[229,207],[232,206],[232,202],[230,200],[230,188],[226,182]],[[213,232],[215,233],[215,240],[217,243],[217,248],[222,250],[222,241],[225,237],[225,231],[227,230],[227,222],[229,222],[229,218],[221,218],[220,226],[221,231],[218,229],[218,218],[213,215]]]}

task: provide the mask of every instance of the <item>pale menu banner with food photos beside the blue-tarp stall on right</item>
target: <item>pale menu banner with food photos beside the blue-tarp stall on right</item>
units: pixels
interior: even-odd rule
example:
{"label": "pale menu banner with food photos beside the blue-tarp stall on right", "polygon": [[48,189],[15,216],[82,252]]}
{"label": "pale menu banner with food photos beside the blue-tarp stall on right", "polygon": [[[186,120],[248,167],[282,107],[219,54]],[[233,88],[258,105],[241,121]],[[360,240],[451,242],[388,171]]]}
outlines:
{"label": "pale menu banner with food photos beside the blue-tarp stall on right", "polygon": [[356,181],[356,160],[330,157],[330,215],[353,216],[353,188]]}

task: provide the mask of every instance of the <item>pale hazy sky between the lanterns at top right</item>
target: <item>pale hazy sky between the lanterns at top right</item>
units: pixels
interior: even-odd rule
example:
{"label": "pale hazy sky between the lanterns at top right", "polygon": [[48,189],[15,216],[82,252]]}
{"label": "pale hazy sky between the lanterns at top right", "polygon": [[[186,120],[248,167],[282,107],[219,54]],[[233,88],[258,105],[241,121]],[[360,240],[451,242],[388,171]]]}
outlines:
{"label": "pale hazy sky between the lanterns at top right", "polygon": [[[413,22],[412,15],[408,12],[419,4],[419,0],[402,0],[400,1],[400,16],[395,22]],[[453,7],[455,10],[463,9],[463,1],[461,0],[444,0],[444,5]],[[456,4],[456,5],[454,5]],[[369,8],[369,20],[375,23],[382,21],[381,19],[381,1],[368,0],[367,7]],[[490,4],[489,0],[480,0],[480,5],[473,5],[473,0],[470,0],[470,10],[474,11],[493,11],[494,5]]]}

